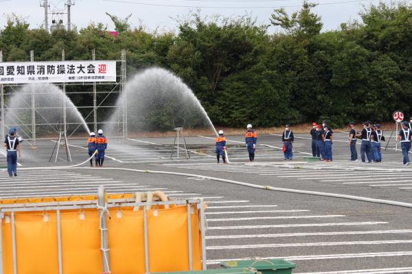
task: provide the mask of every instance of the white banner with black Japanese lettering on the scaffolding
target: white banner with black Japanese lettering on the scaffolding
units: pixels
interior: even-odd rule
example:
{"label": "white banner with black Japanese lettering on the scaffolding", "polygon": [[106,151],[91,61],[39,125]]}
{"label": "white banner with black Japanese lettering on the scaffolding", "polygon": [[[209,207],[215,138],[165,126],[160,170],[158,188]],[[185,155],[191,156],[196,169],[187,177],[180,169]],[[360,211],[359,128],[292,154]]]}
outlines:
{"label": "white banner with black Japanese lettering on the scaffolding", "polygon": [[0,84],[116,82],[115,61],[2,62]]}

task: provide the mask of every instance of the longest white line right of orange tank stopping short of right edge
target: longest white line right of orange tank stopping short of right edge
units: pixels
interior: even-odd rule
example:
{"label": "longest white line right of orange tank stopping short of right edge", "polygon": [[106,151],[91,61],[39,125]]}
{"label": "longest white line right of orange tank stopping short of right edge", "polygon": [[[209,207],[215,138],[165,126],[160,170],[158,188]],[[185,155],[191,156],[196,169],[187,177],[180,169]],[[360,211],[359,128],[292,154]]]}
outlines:
{"label": "longest white line right of orange tank stopping short of right edge", "polygon": [[286,225],[232,225],[230,227],[207,227],[207,229],[258,229],[275,227],[332,227],[346,225],[383,225],[388,222],[354,222],[354,223],[293,223]]}

